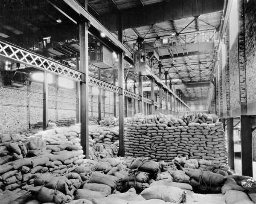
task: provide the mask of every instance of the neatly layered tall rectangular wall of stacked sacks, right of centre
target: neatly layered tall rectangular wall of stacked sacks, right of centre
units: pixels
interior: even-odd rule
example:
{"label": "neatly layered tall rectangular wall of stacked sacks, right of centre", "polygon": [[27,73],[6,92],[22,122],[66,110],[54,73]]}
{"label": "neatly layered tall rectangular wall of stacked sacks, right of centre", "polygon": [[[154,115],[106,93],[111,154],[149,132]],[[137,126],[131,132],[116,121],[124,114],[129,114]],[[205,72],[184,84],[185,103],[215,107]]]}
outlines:
{"label": "neatly layered tall rectangular wall of stacked sacks, right of centre", "polygon": [[[222,123],[205,113],[184,116],[177,118],[159,113],[126,118],[125,155],[166,162],[175,157],[203,158],[226,164]],[[203,120],[207,123],[200,124]]]}

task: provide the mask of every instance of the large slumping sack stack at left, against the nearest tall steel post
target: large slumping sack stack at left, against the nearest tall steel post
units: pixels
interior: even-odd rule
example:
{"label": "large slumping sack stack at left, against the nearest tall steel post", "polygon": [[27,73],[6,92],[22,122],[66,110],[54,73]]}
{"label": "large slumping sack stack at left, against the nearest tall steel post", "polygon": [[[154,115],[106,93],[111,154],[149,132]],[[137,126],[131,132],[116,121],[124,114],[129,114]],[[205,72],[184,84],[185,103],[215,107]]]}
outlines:
{"label": "large slumping sack stack at left, against the nearest tall steel post", "polygon": [[84,162],[80,127],[56,128],[30,137],[1,134],[0,188],[14,190],[32,184],[38,173],[63,174]]}

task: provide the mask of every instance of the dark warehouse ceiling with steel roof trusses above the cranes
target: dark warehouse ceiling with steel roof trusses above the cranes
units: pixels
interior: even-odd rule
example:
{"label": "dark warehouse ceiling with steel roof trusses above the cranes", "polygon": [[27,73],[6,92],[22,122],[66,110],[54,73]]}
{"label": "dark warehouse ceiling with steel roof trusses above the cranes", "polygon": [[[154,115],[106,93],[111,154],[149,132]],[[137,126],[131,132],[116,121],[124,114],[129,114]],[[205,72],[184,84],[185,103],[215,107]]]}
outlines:
{"label": "dark warehouse ceiling with steel roof trusses above the cranes", "polygon": [[[122,19],[124,45],[131,53],[138,49],[138,41],[159,53],[151,71],[159,76],[158,65],[162,64],[162,80],[167,74],[167,82],[183,93],[189,106],[207,101],[223,8],[224,0],[88,0],[89,13],[116,38],[117,23]],[[0,16],[1,40],[76,68],[76,23],[81,17],[63,0],[3,0]],[[44,47],[43,38],[49,36],[51,46]],[[90,36],[92,52],[95,42]],[[97,77],[97,70],[90,66],[90,75]],[[102,79],[113,83],[113,69],[105,69]],[[128,83],[137,81],[130,63],[125,63],[125,79]],[[150,80],[143,79],[145,91],[149,91]]]}

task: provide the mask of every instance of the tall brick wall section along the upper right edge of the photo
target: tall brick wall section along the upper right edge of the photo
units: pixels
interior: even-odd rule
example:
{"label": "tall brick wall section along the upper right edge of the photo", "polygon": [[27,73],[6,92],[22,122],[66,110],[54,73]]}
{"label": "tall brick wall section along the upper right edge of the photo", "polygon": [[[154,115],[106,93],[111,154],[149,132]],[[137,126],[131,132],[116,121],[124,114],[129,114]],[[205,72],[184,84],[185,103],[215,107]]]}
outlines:
{"label": "tall brick wall section along the upper right edge of the photo", "polygon": [[245,10],[245,56],[247,103],[256,100],[256,1],[250,0]]}

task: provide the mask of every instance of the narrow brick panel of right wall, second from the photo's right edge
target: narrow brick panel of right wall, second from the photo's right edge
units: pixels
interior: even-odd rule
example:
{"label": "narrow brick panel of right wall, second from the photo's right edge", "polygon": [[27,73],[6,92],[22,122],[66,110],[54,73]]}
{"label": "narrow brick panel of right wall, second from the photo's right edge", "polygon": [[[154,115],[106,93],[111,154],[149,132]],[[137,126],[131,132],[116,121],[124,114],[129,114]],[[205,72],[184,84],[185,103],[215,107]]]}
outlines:
{"label": "narrow brick panel of right wall, second from the photo's right edge", "polygon": [[238,40],[234,41],[229,55],[230,66],[230,109],[239,107],[239,61]]}

